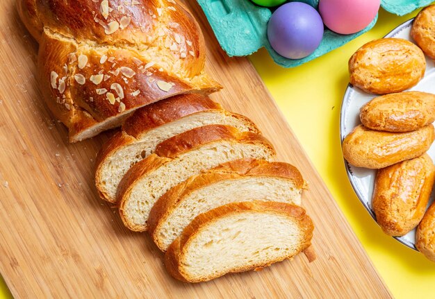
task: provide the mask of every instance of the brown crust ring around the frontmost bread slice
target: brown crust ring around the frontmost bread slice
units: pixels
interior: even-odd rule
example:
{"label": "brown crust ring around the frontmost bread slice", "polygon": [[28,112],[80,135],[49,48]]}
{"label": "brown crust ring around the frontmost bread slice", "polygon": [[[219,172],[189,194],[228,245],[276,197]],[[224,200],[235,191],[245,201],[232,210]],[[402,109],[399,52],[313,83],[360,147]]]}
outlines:
{"label": "brown crust ring around the frontmost bread slice", "polygon": [[[246,203],[231,203],[229,205],[223,205],[221,207],[217,207],[214,210],[208,211],[204,214],[199,214],[184,230],[181,236],[176,239],[171,246],[168,248],[165,254],[165,266],[167,271],[172,275],[172,277],[177,280],[181,280],[182,282],[205,282],[208,280],[212,280],[216,277],[220,277],[227,273],[216,273],[210,277],[202,277],[200,280],[195,280],[193,277],[189,277],[188,273],[183,273],[183,256],[186,254],[183,250],[191,239],[195,237],[195,235],[205,228],[207,225],[210,225],[217,219],[220,219],[224,216],[237,214],[241,212],[268,212],[273,214],[281,214],[286,215],[289,218],[297,219],[299,222],[299,229],[302,230],[302,235],[304,236],[302,243],[299,246],[299,250],[297,252],[301,252],[306,248],[311,246],[311,238],[313,236],[314,225],[311,221],[310,217],[306,214],[305,210],[302,207],[297,205],[290,205],[288,203],[276,203],[276,202],[264,202],[264,201],[252,201]],[[243,272],[255,270],[256,268],[263,268],[266,266],[270,266],[270,264],[274,264],[275,262],[281,262],[284,259],[288,259],[289,257],[284,257],[283,259],[277,259],[268,261],[263,264],[252,264],[245,267],[234,268],[229,273]]]}

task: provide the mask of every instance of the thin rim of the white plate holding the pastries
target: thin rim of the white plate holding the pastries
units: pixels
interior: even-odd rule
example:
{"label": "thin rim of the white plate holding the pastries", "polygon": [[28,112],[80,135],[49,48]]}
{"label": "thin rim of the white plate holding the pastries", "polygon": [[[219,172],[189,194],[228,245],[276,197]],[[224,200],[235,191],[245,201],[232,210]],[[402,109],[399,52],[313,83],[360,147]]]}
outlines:
{"label": "thin rim of the white plate holding the pastries", "polygon": [[[411,24],[414,19],[415,18],[411,18],[411,19],[403,22],[399,26],[395,27],[392,31],[390,31],[389,33],[384,35],[383,38],[385,38],[385,37],[392,37],[393,35],[396,35],[400,31],[402,31],[404,28],[409,26],[409,24]],[[345,131],[345,124],[344,124],[344,114],[345,113],[344,113],[344,108],[345,108],[345,105],[349,103],[349,101],[345,101],[345,99],[348,99],[348,97],[350,96],[350,94],[353,91],[354,91],[354,86],[351,83],[348,83],[347,87],[346,87],[346,90],[345,90],[345,94],[343,95],[343,99],[342,99],[341,105],[340,105],[340,147],[341,147],[341,153],[342,153],[342,155],[343,155],[343,140],[345,139],[345,135],[344,135],[344,131]],[[372,209],[368,205],[366,205],[366,201],[361,198],[362,197],[362,195],[361,195],[362,193],[359,190],[359,187],[357,186],[356,182],[354,181],[354,177],[352,175],[352,170],[350,169],[350,164],[345,160],[344,156],[343,156],[343,161],[344,161],[344,164],[345,164],[347,179],[349,180],[350,185],[352,186],[354,194],[356,194],[356,197],[359,199],[360,203],[366,209],[368,214],[370,214],[370,216],[375,221],[375,223],[377,225],[379,225],[377,223],[377,220],[376,220],[375,212],[373,212]],[[401,239],[401,237],[393,237],[393,238],[396,239],[397,241],[399,241],[400,244],[402,244],[404,246],[407,246],[408,248],[411,248],[413,250],[418,251],[418,249],[416,248],[415,242],[411,243],[409,241]]]}

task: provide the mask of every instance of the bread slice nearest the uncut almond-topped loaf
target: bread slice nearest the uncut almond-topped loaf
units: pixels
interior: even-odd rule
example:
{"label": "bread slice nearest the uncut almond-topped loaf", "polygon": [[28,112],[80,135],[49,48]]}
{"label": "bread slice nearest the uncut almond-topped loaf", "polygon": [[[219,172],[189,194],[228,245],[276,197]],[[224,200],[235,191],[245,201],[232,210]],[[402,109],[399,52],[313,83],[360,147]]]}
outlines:
{"label": "bread slice nearest the uncut almond-topped loaf", "polygon": [[200,94],[174,96],[136,110],[97,155],[95,185],[101,198],[115,203],[122,177],[131,166],[153,153],[157,144],[192,128],[210,124],[258,133],[252,121],[223,110],[219,104]]}

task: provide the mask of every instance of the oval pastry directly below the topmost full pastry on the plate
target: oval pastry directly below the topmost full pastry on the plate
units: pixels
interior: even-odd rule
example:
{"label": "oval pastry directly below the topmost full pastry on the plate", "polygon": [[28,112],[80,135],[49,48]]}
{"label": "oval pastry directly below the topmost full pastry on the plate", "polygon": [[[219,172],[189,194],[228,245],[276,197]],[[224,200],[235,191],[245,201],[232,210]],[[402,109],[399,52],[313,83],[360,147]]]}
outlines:
{"label": "oval pastry directly below the topmost full pastry on the plate", "polygon": [[400,92],[378,96],[363,105],[361,123],[372,130],[408,132],[435,121],[435,95]]}

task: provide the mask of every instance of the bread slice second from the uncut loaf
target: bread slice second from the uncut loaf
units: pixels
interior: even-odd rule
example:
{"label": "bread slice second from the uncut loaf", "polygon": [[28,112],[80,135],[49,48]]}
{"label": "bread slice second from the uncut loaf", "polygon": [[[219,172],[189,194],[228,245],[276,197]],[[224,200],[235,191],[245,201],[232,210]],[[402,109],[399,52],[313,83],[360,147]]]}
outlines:
{"label": "bread slice second from the uncut loaf", "polygon": [[167,139],[120,182],[117,199],[122,220],[131,230],[145,231],[156,200],[190,176],[225,162],[245,157],[270,160],[273,155],[263,136],[231,126],[203,126]]}

